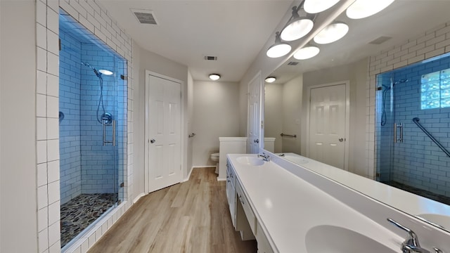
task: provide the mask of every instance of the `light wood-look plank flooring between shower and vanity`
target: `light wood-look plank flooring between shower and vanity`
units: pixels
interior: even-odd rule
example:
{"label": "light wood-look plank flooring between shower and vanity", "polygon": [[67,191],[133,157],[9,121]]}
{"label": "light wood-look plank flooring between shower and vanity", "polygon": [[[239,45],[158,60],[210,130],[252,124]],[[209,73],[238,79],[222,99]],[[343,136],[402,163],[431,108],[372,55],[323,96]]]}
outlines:
{"label": "light wood-look plank flooring between shower and vanity", "polygon": [[214,168],[195,168],[189,181],[141,197],[89,253],[257,252],[234,231],[225,188]]}

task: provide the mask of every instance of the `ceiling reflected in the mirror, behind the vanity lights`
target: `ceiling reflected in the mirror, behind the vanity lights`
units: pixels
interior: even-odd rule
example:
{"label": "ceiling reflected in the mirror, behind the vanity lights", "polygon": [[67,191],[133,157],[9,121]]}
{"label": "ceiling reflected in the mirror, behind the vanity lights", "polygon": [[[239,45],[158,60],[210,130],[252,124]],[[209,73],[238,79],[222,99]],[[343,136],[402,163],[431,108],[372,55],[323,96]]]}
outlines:
{"label": "ceiling reflected in the mirror, behind the vanity lights", "polygon": [[[361,20],[351,20],[344,12],[336,20],[349,25],[349,32],[345,37],[332,44],[319,45],[321,51],[314,58],[289,58],[271,75],[277,77],[276,83],[285,83],[299,73],[354,63],[377,55],[449,22],[449,10],[450,0],[396,0],[380,13]],[[449,35],[446,36],[446,39],[449,39]],[[382,44],[370,43],[379,37],[391,39]],[[288,65],[290,62],[297,62],[298,65]]]}

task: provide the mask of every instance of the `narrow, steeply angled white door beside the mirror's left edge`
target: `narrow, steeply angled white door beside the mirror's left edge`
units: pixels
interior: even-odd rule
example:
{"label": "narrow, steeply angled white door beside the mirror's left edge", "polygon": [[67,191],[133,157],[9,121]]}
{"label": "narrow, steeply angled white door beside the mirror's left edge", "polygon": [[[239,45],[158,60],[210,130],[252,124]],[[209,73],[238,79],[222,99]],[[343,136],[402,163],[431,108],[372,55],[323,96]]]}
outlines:
{"label": "narrow, steeply angled white door beside the mirror's left edge", "polygon": [[256,77],[248,84],[248,138],[247,152],[250,154],[259,153],[259,134],[261,126],[259,125],[259,108],[261,107],[261,75]]}

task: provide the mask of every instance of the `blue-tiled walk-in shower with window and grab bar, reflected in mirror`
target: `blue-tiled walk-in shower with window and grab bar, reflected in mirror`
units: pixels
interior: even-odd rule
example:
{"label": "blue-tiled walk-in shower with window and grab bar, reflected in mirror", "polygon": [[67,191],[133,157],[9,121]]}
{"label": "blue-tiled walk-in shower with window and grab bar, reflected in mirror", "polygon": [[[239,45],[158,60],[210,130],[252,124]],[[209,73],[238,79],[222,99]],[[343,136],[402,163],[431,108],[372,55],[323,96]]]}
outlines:
{"label": "blue-tiled walk-in shower with window and grab bar, reflected in mirror", "polygon": [[450,205],[450,56],[378,74],[377,180]]}

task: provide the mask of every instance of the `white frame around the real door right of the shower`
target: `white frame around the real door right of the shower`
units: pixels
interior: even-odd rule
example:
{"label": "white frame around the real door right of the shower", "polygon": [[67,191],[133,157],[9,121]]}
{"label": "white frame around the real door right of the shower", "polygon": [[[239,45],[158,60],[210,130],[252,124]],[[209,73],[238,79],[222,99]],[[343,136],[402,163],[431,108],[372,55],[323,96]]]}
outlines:
{"label": "white frame around the real door right of the shower", "polygon": [[185,129],[184,129],[184,110],[185,110],[185,108],[184,108],[184,100],[185,100],[185,98],[184,98],[184,82],[183,81],[181,81],[181,80],[179,80],[179,79],[175,79],[175,78],[172,78],[172,77],[167,77],[166,75],[164,75],[164,74],[159,74],[159,73],[157,73],[157,72],[153,72],[153,71],[150,71],[150,70],[146,70],[146,78],[145,78],[145,82],[146,82],[146,85],[145,85],[145,89],[144,89],[144,98],[145,98],[145,100],[144,100],[144,105],[145,105],[145,108],[144,108],[144,140],[143,140],[143,142],[144,142],[144,154],[143,154],[143,157],[144,157],[144,169],[143,169],[143,173],[144,173],[144,183],[143,183],[143,185],[144,185],[144,193],[145,194],[148,194],[148,193],[150,193],[150,186],[148,185],[148,181],[150,180],[150,171],[148,170],[149,168],[148,168],[148,164],[150,164],[150,161],[149,161],[149,157],[148,157],[148,151],[149,151],[149,149],[150,149],[150,147],[149,147],[149,145],[150,145],[150,134],[148,133],[148,120],[150,119],[150,115],[149,115],[149,111],[148,111],[148,109],[149,109],[149,103],[150,103],[150,98],[148,97],[148,82],[149,82],[149,78],[148,78],[148,76],[149,75],[152,75],[153,77],[159,77],[159,78],[162,78],[162,79],[167,79],[167,80],[169,80],[169,81],[172,81],[172,82],[176,82],[176,83],[178,83],[178,84],[180,84],[180,89],[181,89],[181,105],[180,105],[180,107],[181,107],[181,115],[180,115],[180,127],[181,127],[181,134],[180,134],[180,166],[181,166],[181,175],[180,175],[180,182],[181,181],[183,181],[183,179],[184,179],[184,172],[185,172],[185,170],[186,170],[186,166],[185,166],[185,164],[184,164],[184,156],[185,156],[185,153],[186,153],[186,150],[185,150],[185,148],[184,148],[184,144],[185,144],[185,138],[184,138],[184,136],[186,136],[186,133],[185,133]]}

